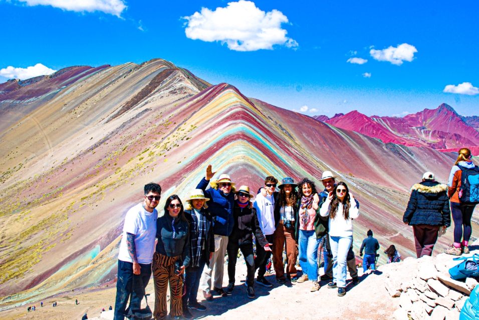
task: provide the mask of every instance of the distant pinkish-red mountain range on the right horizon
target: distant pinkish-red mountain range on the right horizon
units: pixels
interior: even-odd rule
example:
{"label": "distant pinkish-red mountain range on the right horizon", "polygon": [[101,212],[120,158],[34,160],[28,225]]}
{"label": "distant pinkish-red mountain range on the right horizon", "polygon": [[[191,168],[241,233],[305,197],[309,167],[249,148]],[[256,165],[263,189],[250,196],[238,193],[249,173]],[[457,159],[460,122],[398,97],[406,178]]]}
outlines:
{"label": "distant pinkish-red mountain range on the right horizon", "polygon": [[461,116],[446,103],[404,117],[367,116],[356,110],[337,113],[331,118],[326,115],[313,117],[385,143],[429,146],[442,151],[457,151],[465,146],[479,154],[479,116]]}

